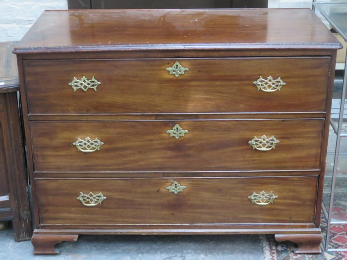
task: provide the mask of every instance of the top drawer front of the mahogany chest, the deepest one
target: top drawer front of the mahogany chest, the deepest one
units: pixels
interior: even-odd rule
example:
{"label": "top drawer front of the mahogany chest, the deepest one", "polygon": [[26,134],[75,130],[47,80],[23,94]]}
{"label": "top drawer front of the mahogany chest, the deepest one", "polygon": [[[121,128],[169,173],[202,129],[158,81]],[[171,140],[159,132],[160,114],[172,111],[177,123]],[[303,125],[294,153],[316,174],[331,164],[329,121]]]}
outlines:
{"label": "top drawer front of the mahogany chest, the deepest one", "polygon": [[[189,70],[170,75],[175,61]],[[329,64],[327,57],[28,60],[24,69],[30,114],[298,112],[325,111]],[[286,83],[280,89],[278,78]],[[263,91],[270,83],[274,91]]]}

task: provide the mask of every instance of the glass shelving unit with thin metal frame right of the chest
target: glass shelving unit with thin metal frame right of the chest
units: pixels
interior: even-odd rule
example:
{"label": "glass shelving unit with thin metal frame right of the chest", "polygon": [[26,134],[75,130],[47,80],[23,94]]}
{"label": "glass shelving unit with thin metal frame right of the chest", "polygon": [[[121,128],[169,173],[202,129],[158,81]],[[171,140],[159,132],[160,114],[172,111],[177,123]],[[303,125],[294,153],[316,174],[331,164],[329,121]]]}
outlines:
{"label": "glass shelving unit with thin metal frame right of the chest", "polygon": [[[347,1],[315,2],[314,7],[327,19],[332,30],[347,42]],[[346,57],[346,53],[344,56]],[[338,60],[336,67],[324,181],[322,232],[326,251],[347,251],[346,58],[344,61]]]}

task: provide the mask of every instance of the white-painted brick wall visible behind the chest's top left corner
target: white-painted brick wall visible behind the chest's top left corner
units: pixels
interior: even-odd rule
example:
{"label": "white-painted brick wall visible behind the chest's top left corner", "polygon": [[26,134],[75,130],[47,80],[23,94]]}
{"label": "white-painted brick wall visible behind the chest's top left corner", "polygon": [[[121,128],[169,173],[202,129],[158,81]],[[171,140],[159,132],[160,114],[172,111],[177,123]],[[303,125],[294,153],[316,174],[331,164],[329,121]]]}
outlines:
{"label": "white-painted brick wall visible behind the chest's top left corner", "polygon": [[19,41],[49,9],[67,9],[67,0],[0,0],[0,42]]}

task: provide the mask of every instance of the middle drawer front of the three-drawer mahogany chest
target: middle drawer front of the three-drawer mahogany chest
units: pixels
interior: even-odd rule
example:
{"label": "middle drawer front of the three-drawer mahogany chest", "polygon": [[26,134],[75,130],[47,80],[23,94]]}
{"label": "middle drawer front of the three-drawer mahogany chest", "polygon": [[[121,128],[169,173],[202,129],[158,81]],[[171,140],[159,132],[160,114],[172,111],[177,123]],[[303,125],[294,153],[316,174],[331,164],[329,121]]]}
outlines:
{"label": "middle drawer front of the three-drawer mahogany chest", "polygon": [[[323,124],[323,119],[30,122],[35,170],[41,172],[319,169]],[[179,127],[181,136],[175,136]],[[253,149],[254,138],[263,136],[268,151]]]}

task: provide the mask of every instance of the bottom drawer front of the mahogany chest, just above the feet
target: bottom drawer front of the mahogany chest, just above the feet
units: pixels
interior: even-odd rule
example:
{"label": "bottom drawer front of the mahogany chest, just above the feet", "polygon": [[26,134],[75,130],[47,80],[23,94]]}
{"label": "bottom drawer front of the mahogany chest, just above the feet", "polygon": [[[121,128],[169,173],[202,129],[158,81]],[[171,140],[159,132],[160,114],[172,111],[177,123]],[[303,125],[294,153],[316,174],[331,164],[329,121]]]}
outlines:
{"label": "bottom drawer front of the mahogany chest, just above the feet", "polygon": [[[176,194],[168,188],[174,182]],[[52,225],[312,223],[317,189],[312,176],[36,183],[40,223]]]}

